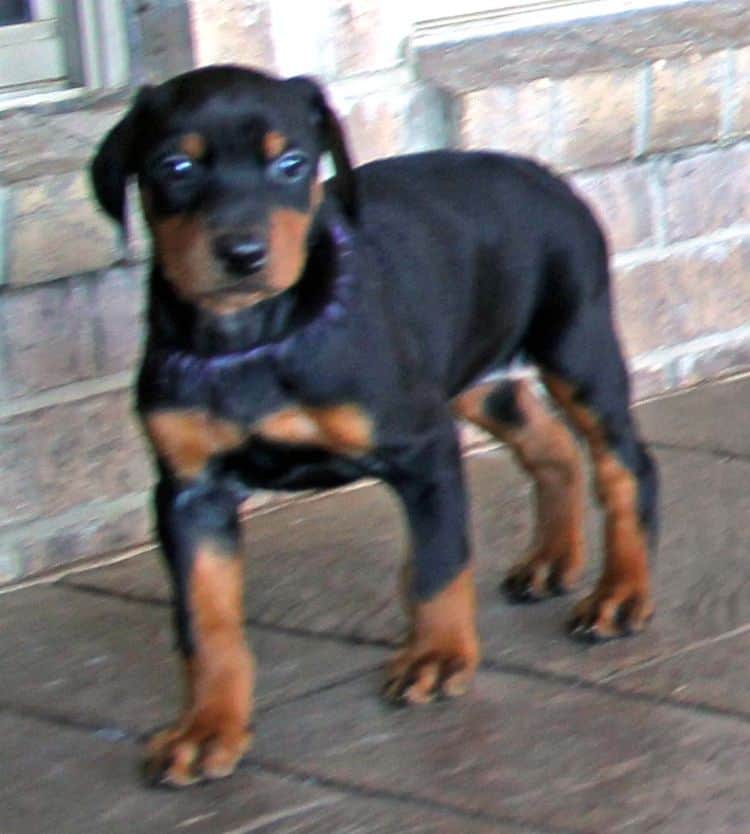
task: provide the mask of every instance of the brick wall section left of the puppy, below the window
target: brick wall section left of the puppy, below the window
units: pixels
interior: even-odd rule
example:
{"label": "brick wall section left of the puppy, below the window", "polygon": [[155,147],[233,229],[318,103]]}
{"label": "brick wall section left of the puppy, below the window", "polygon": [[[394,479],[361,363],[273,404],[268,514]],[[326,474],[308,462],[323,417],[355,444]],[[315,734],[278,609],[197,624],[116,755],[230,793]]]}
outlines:
{"label": "brick wall section left of the puppy, below the window", "polygon": [[[126,3],[133,83],[192,63],[187,4]],[[127,90],[0,112],[0,585],[151,536],[131,414],[143,235],[114,235],[85,166]]]}

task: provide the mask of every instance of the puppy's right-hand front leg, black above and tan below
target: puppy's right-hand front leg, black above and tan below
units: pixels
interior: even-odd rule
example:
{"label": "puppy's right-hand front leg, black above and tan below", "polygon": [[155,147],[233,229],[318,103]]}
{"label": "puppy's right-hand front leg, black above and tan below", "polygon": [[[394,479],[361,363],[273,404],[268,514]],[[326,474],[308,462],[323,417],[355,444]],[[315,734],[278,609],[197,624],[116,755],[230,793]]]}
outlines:
{"label": "puppy's right-hand front leg, black above and tan below", "polygon": [[404,571],[410,629],[388,664],[385,697],[426,703],[463,694],[479,663],[461,461],[453,424],[400,455],[392,486],[411,534]]}

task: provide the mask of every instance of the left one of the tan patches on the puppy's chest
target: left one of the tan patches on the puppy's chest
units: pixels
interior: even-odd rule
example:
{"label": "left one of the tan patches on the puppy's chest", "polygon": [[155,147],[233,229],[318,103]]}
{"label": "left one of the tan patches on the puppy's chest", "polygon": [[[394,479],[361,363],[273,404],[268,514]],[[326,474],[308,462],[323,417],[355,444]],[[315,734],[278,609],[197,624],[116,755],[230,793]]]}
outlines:
{"label": "left one of the tan patches on the puppy's chest", "polygon": [[145,418],[159,457],[178,477],[195,478],[214,455],[237,449],[247,439],[235,423],[203,411],[156,411]]}

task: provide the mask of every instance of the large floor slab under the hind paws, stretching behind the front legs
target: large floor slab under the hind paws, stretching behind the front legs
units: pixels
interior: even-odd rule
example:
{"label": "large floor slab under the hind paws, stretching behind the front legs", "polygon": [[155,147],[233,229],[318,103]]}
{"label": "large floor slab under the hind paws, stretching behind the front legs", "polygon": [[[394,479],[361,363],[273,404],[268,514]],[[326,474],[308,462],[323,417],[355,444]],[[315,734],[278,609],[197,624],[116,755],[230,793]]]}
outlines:
{"label": "large floor slab under the hind paws, stretching behind the front legs", "polygon": [[[663,530],[656,567],[657,617],[643,635],[581,646],[563,633],[574,598],[511,606],[496,588],[530,537],[529,485],[507,453],[469,460],[474,542],[485,658],[601,680],[668,657],[695,641],[750,622],[750,462],[700,452],[658,453]],[[581,592],[600,563],[597,517]],[[398,637],[396,599],[403,531],[394,499],[367,488],[302,503],[248,524],[248,611],[268,625],[367,641]],[[101,590],[165,599],[155,555],[70,580]]]}

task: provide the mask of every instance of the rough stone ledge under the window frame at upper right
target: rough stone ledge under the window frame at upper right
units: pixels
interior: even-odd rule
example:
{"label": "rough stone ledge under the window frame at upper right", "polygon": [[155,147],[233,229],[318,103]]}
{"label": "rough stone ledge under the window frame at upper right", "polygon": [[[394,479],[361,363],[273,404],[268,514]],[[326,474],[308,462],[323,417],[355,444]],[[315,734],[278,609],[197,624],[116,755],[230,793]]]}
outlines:
{"label": "rough stone ledge under the window frame at upper right", "polygon": [[750,43],[745,0],[689,0],[537,25],[528,20],[523,14],[487,14],[419,25],[409,45],[417,75],[463,94]]}

